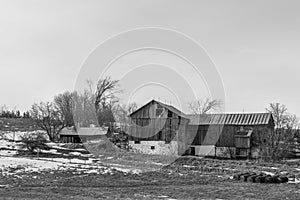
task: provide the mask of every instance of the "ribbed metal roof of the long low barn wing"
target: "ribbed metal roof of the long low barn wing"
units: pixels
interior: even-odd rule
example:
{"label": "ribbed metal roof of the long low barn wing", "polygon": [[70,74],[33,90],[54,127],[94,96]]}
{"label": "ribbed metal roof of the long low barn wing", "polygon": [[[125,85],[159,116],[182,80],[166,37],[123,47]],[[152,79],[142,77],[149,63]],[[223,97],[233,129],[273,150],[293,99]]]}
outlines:
{"label": "ribbed metal roof of the long low barn wing", "polygon": [[270,113],[187,115],[190,125],[267,125],[273,120]]}

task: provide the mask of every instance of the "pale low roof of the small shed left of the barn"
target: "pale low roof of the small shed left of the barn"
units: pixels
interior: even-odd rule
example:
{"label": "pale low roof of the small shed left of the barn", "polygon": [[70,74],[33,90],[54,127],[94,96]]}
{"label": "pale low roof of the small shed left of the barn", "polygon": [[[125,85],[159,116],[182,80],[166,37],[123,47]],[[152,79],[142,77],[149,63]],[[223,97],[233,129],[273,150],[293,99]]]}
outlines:
{"label": "pale low roof of the small shed left of the barn", "polygon": [[95,136],[105,135],[107,128],[104,127],[80,127],[75,130],[73,127],[66,127],[61,130],[60,135],[79,135],[79,136]]}

